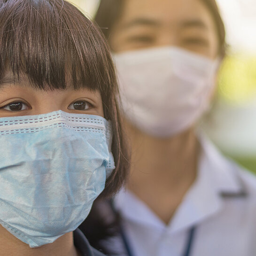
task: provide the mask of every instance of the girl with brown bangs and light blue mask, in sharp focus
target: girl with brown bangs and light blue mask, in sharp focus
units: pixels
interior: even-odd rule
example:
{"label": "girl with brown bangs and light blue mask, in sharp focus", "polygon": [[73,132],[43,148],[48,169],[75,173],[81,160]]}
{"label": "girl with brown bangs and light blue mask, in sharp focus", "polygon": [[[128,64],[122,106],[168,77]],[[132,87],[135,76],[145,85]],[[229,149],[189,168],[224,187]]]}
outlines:
{"label": "girl with brown bangs and light blue mask, in sharp focus", "polygon": [[0,0],[0,256],[101,255],[78,225],[126,176],[117,91],[77,8]]}

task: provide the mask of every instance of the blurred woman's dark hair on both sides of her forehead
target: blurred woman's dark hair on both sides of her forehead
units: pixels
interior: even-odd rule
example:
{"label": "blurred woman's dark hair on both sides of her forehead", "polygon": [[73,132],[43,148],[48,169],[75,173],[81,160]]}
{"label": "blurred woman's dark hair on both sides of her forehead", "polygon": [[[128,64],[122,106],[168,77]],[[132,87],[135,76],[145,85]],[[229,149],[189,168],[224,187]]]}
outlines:
{"label": "blurred woman's dark hair on both sides of her forehead", "polygon": [[[100,6],[94,18],[95,22],[101,27],[102,32],[109,39],[113,25],[122,15],[125,0],[101,0]],[[220,16],[216,0],[201,0],[209,9],[214,18],[218,39],[219,39],[219,54],[225,56],[225,26]]]}

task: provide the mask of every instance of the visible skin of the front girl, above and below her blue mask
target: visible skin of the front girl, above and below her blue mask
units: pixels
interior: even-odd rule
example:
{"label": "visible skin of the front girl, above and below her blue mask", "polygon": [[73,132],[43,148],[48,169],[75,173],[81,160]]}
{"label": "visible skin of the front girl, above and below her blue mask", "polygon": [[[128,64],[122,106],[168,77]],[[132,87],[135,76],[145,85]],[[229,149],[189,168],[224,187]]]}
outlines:
{"label": "visible skin of the front girl, above and below her blue mask", "polygon": [[[79,90],[43,91],[33,89],[23,76],[20,82],[8,72],[0,85],[0,117],[38,115],[55,110],[69,113],[104,116],[99,91]],[[77,109],[83,103],[83,109]],[[75,103],[75,104],[74,104]],[[19,109],[14,111],[13,109]],[[73,232],[66,233],[51,244],[39,248],[17,239],[0,225],[0,256],[80,256],[73,242]]]}

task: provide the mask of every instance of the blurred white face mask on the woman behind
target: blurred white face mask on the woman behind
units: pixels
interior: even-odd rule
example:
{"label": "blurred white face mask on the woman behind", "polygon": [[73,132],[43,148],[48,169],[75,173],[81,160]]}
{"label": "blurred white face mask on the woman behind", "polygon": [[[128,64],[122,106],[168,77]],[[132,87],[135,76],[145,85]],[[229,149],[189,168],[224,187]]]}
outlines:
{"label": "blurred white face mask on the woman behind", "polygon": [[115,54],[124,115],[141,131],[171,137],[208,109],[218,60],[161,47]]}

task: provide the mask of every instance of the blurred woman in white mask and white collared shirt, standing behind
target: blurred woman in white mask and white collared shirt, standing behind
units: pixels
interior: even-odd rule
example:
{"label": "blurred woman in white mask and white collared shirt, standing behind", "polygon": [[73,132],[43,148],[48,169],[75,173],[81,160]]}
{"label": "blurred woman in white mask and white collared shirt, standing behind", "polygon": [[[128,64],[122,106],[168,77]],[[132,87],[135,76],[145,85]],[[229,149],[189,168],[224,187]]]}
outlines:
{"label": "blurred woman in white mask and white collared shirt, standing behind", "polygon": [[112,204],[120,235],[94,237],[98,248],[255,255],[256,179],[195,129],[225,55],[215,0],[101,0],[95,20],[115,57],[132,145],[127,189]]}

